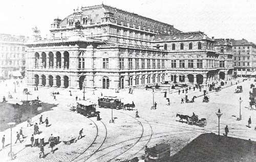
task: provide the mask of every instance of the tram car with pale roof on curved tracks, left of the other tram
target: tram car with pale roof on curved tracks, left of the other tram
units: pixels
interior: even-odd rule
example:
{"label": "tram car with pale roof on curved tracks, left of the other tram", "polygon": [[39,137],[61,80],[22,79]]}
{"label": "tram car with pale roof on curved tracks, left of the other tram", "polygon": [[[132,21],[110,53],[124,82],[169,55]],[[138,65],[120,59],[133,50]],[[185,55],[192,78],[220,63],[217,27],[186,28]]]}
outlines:
{"label": "tram car with pale roof on curved tracks, left of the other tram", "polygon": [[79,100],[76,106],[77,113],[80,113],[86,117],[96,117],[96,104],[90,101]]}

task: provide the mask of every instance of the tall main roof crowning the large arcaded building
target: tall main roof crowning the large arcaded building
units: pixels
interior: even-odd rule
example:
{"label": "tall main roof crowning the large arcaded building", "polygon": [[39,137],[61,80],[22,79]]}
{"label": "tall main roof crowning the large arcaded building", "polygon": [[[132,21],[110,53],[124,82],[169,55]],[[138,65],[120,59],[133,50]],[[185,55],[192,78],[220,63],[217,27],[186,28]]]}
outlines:
{"label": "tall main roof crowning the large arcaded building", "polygon": [[131,27],[135,25],[135,28],[138,28],[140,25],[141,29],[143,29],[143,27],[145,26],[146,30],[148,30],[148,28],[151,28],[151,30],[154,28],[155,31],[159,30],[159,32],[161,30],[163,32],[166,31],[170,33],[180,32],[179,30],[175,29],[173,25],[169,25],[164,22],[160,22],[151,18],[138,15],[136,13],[127,12],[103,4],[97,6],[82,7],[81,10],[77,9],[77,11],[74,10],[73,14],[67,16],[65,19],[61,21],[60,28],[65,27],[67,25],[67,20],[72,19],[77,15],[87,17],[88,20],[90,19],[90,23],[97,24],[102,21],[101,18],[105,17],[106,13],[114,17],[117,20],[118,25],[121,25],[121,21],[123,21],[124,26],[127,26],[127,23],[130,23]]}

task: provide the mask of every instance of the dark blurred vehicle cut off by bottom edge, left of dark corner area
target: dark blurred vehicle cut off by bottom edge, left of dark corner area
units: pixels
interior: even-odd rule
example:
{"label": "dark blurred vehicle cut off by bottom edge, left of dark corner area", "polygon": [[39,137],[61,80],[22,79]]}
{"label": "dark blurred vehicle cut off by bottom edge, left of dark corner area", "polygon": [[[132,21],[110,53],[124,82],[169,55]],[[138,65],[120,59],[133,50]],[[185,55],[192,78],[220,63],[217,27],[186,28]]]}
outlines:
{"label": "dark blurred vehicle cut off by bottom edge, left of dark corner area", "polygon": [[158,144],[148,148],[145,152],[146,162],[167,162],[170,158],[170,146],[167,144]]}

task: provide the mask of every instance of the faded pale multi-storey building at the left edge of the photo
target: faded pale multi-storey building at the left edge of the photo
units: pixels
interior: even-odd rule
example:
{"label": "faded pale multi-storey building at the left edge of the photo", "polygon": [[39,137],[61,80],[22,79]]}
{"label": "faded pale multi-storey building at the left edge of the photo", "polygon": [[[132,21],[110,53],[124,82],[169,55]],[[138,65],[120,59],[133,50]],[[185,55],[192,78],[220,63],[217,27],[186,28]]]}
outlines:
{"label": "faded pale multi-storey building at the left edge of the photo", "polygon": [[0,75],[3,78],[25,74],[28,37],[0,34]]}

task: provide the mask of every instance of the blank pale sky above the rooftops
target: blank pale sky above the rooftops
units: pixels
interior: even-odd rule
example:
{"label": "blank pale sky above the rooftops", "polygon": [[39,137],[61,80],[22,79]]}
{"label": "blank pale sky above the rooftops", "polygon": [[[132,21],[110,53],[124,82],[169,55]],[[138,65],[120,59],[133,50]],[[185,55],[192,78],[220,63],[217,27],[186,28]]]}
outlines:
{"label": "blank pale sky above the rooftops", "polygon": [[173,25],[202,31],[215,38],[245,38],[256,43],[255,0],[1,0],[0,33],[32,35],[37,26],[49,35],[54,18],[63,19],[77,7],[105,4]]}

